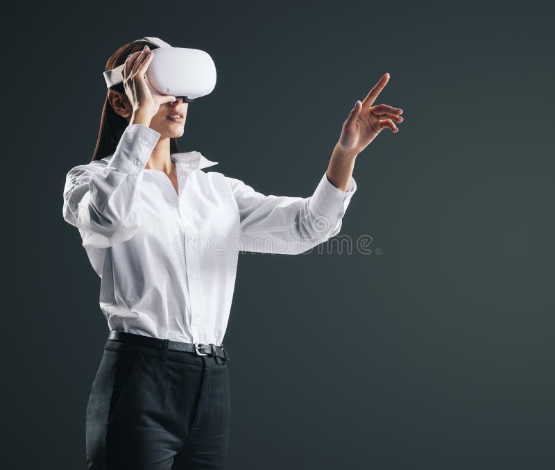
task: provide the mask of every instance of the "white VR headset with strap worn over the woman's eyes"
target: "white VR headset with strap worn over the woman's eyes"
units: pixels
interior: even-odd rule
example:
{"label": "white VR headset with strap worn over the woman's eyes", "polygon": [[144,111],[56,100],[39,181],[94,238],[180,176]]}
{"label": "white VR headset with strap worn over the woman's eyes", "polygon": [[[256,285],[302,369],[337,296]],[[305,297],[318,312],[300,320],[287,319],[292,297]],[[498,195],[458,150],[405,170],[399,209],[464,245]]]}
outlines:
{"label": "white VR headset with strap worn over the woman's eyes", "polygon": [[[145,36],[133,42],[145,40],[158,46],[152,49],[154,56],[146,69],[148,82],[157,92],[182,96],[187,103],[212,93],[216,86],[216,66],[210,54],[200,49],[171,47],[158,37]],[[125,64],[103,72],[108,88],[123,82],[123,67]]]}

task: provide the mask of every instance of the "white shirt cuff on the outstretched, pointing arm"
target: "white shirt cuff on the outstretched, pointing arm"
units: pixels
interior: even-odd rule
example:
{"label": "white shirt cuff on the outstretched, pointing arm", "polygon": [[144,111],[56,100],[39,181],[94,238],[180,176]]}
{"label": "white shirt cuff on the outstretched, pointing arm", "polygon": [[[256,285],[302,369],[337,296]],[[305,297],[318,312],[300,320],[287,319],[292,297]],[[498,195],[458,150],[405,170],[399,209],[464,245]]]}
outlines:
{"label": "white shirt cuff on the outstretched, pointing arm", "polygon": [[309,202],[309,210],[316,217],[323,216],[331,226],[334,221],[339,220],[345,215],[345,211],[350,203],[352,195],[357,191],[355,178],[350,177],[347,191],[342,191],[335,187],[327,178],[324,172],[320,183],[316,187]]}

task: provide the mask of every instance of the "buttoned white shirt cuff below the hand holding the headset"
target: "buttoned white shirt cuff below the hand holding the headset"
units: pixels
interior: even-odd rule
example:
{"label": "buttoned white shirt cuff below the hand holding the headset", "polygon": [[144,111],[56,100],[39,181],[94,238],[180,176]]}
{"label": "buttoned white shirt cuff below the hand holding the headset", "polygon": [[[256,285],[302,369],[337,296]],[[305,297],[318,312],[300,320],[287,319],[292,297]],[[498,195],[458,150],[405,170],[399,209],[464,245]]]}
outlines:
{"label": "buttoned white shirt cuff below the hand holding the headset", "polygon": [[136,176],[144,170],[160,135],[144,124],[130,124],[123,131],[108,167]]}

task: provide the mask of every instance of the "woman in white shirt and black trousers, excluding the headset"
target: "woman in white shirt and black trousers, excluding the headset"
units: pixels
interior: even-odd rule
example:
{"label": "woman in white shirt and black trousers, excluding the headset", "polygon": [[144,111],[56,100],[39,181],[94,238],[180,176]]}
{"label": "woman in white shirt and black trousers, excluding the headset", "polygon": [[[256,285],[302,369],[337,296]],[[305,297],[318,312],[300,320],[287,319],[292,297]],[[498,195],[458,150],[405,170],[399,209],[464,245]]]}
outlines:
{"label": "woman in white shirt and black trousers, excluding the headset", "polygon": [[[144,48],[143,48],[144,46]],[[63,217],[96,273],[110,335],[86,412],[91,469],[223,469],[230,422],[228,324],[239,251],[298,254],[339,233],[356,191],[358,153],[402,110],[370,106],[388,74],[343,123],[312,196],[264,195],[178,152],[188,103],[157,94],[157,47],[130,42],[108,60],[99,140],[69,170]],[[177,116],[177,117],[176,117]]]}

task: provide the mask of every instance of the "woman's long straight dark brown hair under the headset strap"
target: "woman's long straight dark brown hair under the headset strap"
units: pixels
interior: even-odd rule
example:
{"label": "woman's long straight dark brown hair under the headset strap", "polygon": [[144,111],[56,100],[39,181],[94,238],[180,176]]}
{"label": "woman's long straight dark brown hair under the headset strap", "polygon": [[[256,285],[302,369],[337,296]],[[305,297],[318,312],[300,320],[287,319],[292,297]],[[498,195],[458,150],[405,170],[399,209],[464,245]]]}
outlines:
{"label": "woman's long straight dark brown hair under the headset strap", "polygon": [[[150,41],[141,40],[137,42],[128,42],[115,51],[106,62],[106,70],[111,70],[126,61],[127,56],[136,51],[142,51],[145,45],[150,49],[157,49],[157,45]],[[96,147],[92,155],[91,161],[101,160],[116,151],[117,144],[126,130],[128,123],[126,119],[118,115],[110,102],[108,101],[108,94],[110,90],[126,94],[123,82],[117,83],[106,90],[106,99],[102,108],[102,116],[100,120],[99,137],[96,139]],[[179,151],[178,140],[176,137],[170,139],[170,153],[177,153]]]}

